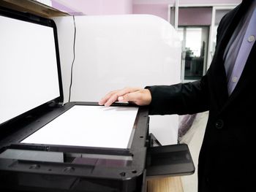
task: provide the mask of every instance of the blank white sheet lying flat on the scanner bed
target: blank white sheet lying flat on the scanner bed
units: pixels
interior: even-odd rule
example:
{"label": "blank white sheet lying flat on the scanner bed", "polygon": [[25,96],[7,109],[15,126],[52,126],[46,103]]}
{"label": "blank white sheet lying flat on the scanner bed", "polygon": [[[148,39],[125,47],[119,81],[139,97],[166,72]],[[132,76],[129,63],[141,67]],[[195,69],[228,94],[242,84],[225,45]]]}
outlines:
{"label": "blank white sheet lying flat on the scanner bed", "polygon": [[138,107],[75,105],[22,143],[127,148]]}

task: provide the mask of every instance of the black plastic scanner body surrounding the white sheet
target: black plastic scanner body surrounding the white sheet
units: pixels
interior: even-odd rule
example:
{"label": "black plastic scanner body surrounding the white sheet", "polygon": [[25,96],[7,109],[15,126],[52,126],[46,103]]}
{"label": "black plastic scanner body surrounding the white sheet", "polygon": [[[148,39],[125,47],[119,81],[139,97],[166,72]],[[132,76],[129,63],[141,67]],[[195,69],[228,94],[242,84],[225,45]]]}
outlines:
{"label": "black plastic scanner body surrounding the white sheet", "polygon": [[[71,102],[63,107],[56,107],[56,109],[42,114],[38,118],[34,118],[29,124],[22,126],[18,132],[1,141],[0,153],[8,149],[18,149],[38,150],[45,153],[48,151],[59,152],[63,153],[64,156],[68,153],[98,154],[106,155],[107,158],[101,161],[101,164],[97,163],[99,160],[95,161],[95,164],[76,164],[72,163],[72,161],[58,163],[0,158],[0,188],[55,191],[56,185],[60,185],[56,182],[56,177],[58,181],[65,183],[65,185],[59,186],[60,191],[62,190],[61,188],[63,190],[80,191],[85,183],[86,185],[91,185],[94,191],[102,190],[105,185],[108,185],[105,191],[137,191],[142,188],[148,144],[148,109],[146,107],[139,108],[134,124],[135,133],[132,145],[127,149],[20,143],[21,140],[34,133],[34,131],[42,128],[42,126],[75,105],[97,105],[97,103]],[[115,104],[114,106],[133,107],[133,105],[129,104]],[[20,126],[20,124],[16,126]],[[112,155],[124,158],[129,157],[129,161],[117,166],[110,165],[108,164],[110,162],[108,157],[111,158]]]}

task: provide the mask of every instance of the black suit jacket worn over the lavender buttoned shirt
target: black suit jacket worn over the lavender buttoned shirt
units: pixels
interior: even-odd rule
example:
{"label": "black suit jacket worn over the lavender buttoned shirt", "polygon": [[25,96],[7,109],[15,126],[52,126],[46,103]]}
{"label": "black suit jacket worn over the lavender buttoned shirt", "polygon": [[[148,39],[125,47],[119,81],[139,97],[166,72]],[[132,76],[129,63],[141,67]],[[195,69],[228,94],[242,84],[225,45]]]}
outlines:
{"label": "black suit jacket worn over the lavender buttoned shirt", "polygon": [[[236,25],[252,1],[244,0],[219,23],[211,66],[199,81],[148,87],[151,115],[209,110],[198,163],[198,191],[250,191],[255,188],[256,47],[252,47],[233,93],[227,94],[223,54]],[[256,28],[255,28],[256,30]]]}

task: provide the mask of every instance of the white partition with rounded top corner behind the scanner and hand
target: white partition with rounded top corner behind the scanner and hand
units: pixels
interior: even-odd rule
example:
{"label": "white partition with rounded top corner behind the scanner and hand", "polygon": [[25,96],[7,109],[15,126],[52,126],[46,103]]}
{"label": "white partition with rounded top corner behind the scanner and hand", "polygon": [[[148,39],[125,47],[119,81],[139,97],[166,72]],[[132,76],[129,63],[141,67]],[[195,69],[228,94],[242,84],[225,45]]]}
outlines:
{"label": "white partition with rounded top corner behind the scanner and hand", "polygon": [[[64,99],[72,64],[72,17],[56,18]],[[71,101],[99,101],[125,86],[180,82],[181,42],[166,20],[152,15],[75,17],[77,37]],[[151,117],[163,145],[176,143],[178,116]]]}

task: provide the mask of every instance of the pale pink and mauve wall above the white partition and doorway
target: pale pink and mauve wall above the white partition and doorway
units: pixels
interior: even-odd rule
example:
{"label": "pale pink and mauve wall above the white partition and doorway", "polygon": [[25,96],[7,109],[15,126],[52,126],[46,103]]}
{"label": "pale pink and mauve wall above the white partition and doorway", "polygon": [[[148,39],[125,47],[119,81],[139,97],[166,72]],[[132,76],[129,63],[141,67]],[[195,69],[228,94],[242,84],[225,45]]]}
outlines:
{"label": "pale pink and mauve wall above the white partition and doorway", "polygon": [[[118,15],[150,14],[168,20],[168,7],[175,0],[52,0],[53,7],[71,13],[71,15]],[[179,4],[238,4],[241,0],[179,0]],[[198,8],[199,9],[199,8]],[[181,25],[209,25],[211,10],[200,8],[180,9]],[[197,13],[197,14],[195,14]],[[200,13],[200,14],[199,14]]]}

